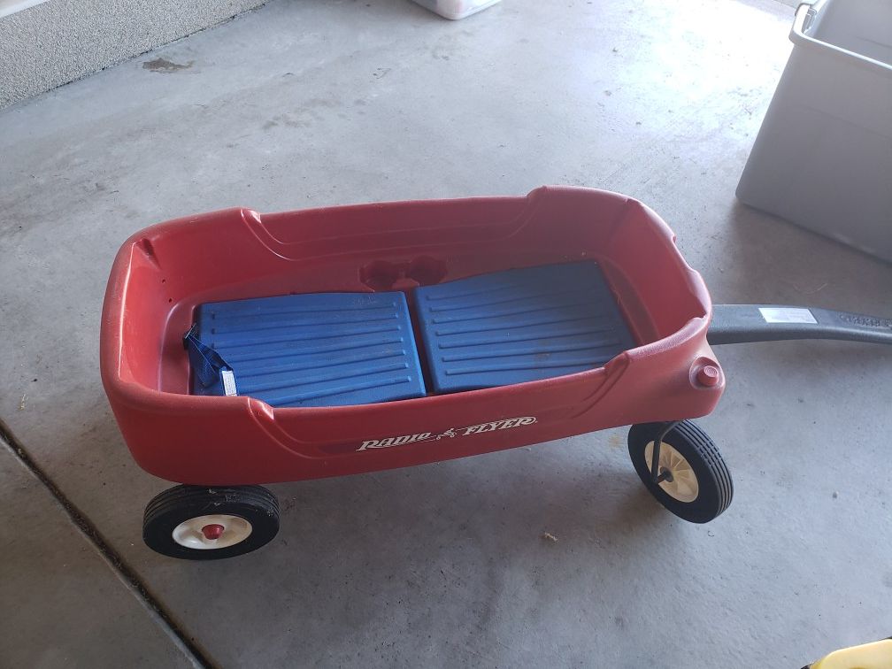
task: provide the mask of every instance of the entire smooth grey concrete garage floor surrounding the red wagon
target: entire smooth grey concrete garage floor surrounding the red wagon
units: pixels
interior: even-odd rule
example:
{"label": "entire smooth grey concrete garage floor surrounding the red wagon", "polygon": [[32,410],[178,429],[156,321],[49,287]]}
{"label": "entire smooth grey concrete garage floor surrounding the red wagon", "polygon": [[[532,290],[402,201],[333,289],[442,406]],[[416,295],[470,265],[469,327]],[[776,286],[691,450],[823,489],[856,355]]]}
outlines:
{"label": "entire smooth grey concrete garage floor surrounding the red wagon", "polygon": [[272,486],[276,541],[218,563],[140,541],[168,483],[130,458],[98,375],[121,242],[236,204],[598,186],[660,212],[716,301],[892,315],[892,267],[734,200],[791,18],[773,0],[505,0],[459,22],[280,1],[0,112],[0,418],[145,588],[7,451],[0,657],[797,667],[888,636],[892,351],[717,351],[728,390],[701,425],[736,498],[712,524],[658,507],[614,430]]}

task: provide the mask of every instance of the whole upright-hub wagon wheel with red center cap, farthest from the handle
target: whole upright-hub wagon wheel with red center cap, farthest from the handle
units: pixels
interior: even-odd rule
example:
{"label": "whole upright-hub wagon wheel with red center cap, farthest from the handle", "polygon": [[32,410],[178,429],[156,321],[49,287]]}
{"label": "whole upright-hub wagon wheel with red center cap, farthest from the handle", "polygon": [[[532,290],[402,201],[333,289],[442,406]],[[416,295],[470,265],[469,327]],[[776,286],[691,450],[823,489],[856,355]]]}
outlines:
{"label": "whole upright-hub wagon wheel with red center cap, farthest from the handle", "polygon": [[171,558],[233,558],[272,541],[279,528],[276,496],[259,485],[178,485],[145,507],[143,541]]}

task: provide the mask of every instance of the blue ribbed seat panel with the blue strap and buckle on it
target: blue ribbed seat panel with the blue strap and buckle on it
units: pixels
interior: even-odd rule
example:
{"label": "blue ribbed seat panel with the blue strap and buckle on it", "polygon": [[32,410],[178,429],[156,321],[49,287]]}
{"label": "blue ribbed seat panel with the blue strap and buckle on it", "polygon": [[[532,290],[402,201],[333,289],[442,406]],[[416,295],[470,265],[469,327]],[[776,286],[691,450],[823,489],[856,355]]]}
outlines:
{"label": "blue ribbed seat panel with the blue strap and buckle on it", "polygon": [[[250,395],[274,407],[423,397],[403,293],[312,293],[202,304],[186,345],[192,392]],[[198,343],[196,343],[196,340]],[[216,351],[202,359],[196,351]],[[213,362],[217,360],[218,362]],[[206,373],[208,368],[210,373]],[[228,368],[228,369],[227,369]],[[205,385],[207,383],[207,385]],[[235,392],[232,392],[235,390]]]}

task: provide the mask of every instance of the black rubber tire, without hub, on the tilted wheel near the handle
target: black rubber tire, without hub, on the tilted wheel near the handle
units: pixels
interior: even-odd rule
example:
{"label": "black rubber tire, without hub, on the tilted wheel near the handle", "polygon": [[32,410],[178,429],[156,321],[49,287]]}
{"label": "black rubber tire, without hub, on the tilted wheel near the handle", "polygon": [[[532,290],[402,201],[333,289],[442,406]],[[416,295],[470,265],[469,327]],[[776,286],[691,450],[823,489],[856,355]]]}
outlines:
{"label": "black rubber tire, without hub, on the tilted wheel near the handle", "polygon": [[731,504],[734,485],[731,483],[731,472],[715,448],[713,440],[690,420],[681,421],[663,438],[663,443],[670,444],[688,460],[694,475],[697,476],[697,499],[684,502],[676,500],[668,492],[654,483],[650,475],[650,467],[645,458],[648,443],[657,439],[665,428],[665,423],[642,423],[632,425],[629,430],[629,455],[632,465],[648,491],[657,501],[673,514],[691,523],[708,523]]}

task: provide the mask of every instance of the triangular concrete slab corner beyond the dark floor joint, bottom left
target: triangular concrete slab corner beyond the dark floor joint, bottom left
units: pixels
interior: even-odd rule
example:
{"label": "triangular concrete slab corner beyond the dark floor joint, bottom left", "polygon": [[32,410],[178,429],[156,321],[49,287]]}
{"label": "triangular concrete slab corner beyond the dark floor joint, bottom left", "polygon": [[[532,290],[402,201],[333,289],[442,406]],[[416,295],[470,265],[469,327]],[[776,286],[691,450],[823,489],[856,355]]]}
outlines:
{"label": "triangular concrete slab corner beyond the dark floor joint, bottom left", "polygon": [[36,476],[0,450],[0,665],[194,666]]}

